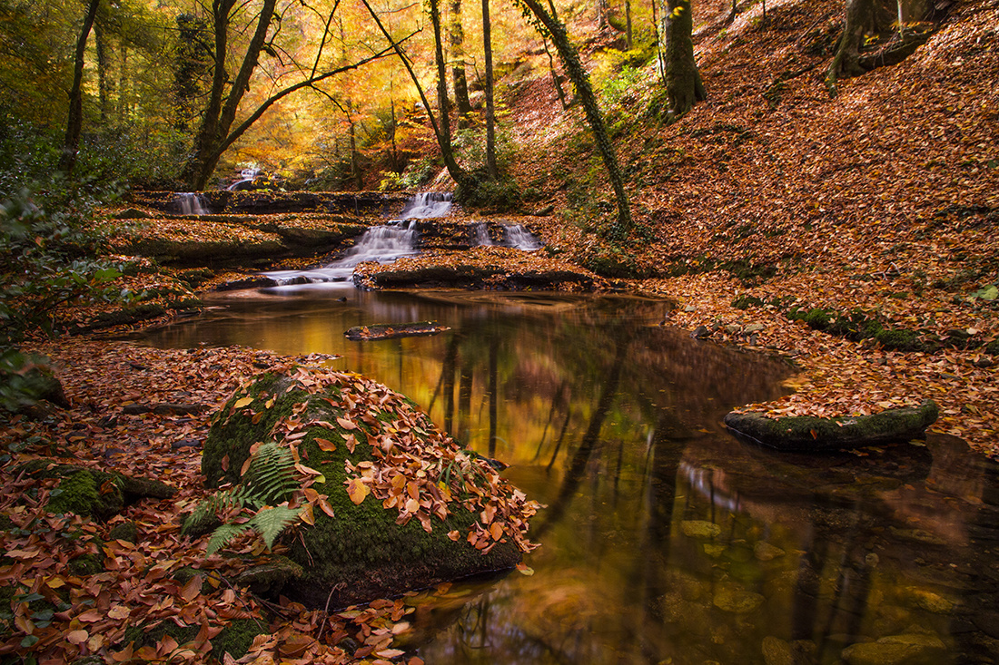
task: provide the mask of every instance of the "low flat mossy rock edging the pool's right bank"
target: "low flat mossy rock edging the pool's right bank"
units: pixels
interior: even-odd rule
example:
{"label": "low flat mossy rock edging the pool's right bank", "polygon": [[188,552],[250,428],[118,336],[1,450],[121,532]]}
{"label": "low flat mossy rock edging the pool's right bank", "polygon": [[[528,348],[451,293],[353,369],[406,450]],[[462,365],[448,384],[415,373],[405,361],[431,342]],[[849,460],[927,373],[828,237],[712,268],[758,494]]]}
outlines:
{"label": "low flat mossy rock edging the pool's right bank", "polygon": [[804,415],[770,418],[762,413],[732,411],[724,422],[736,434],[778,450],[818,452],[920,438],[938,414],[936,403],[926,399],[918,407],[835,418]]}

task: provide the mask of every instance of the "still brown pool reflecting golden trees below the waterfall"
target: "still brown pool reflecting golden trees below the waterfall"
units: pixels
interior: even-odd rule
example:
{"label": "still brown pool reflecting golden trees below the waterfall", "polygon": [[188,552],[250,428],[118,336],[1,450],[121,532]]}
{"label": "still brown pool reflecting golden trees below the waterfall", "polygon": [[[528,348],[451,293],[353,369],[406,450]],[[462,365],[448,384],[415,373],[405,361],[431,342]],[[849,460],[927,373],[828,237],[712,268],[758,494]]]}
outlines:
{"label": "still brown pool reflecting golden trees below the waterfall", "polygon": [[[815,457],[737,441],[722,415],[788,368],[658,326],[663,303],[342,284],[211,305],[146,342],[341,354],[546,504],[532,575],[410,598],[402,640],[432,665],[996,660],[996,466],[945,436]],[[344,337],[427,320],[452,330]]]}

